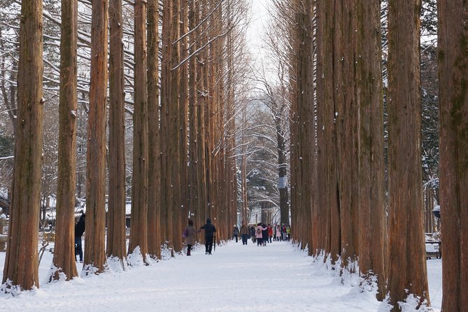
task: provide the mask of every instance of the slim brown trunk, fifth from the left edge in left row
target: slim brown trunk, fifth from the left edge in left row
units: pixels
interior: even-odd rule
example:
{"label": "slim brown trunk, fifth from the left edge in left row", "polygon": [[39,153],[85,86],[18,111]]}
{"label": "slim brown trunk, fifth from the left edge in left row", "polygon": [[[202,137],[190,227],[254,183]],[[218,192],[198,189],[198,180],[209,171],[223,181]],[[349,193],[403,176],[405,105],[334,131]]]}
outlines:
{"label": "slim brown trunk, fifth from the left edge in left row", "polygon": [[132,224],[129,253],[137,247],[143,260],[148,254],[148,93],[146,89],[146,1],[134,7],[134,154]]}

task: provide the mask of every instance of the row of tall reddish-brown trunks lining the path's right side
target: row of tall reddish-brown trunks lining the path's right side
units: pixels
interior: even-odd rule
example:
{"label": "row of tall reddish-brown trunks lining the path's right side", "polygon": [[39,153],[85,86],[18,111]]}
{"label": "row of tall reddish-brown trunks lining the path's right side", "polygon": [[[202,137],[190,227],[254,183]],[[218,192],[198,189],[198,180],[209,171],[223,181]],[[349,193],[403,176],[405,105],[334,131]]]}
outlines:
{"label": "row of tall reddish-brown trunks lining the path's right side", "polygon": [[[409,294],[430,305],[421,166],[421,3],[388,2],[387,215],[381,3],[288,1],[295,13],[288,36],[293,47],[291,213],[296,241],[313,255],[341,257],[343,269],[376,276],[378,299],[388,295],[392,311],[401,311],[399,302]],[[468,207],[462,191],[468,187],[463,30],[468,20],[462,13],[467,3],[440,1],[438,9],[443,309],[461,311],[468,285],[462,222]]]}

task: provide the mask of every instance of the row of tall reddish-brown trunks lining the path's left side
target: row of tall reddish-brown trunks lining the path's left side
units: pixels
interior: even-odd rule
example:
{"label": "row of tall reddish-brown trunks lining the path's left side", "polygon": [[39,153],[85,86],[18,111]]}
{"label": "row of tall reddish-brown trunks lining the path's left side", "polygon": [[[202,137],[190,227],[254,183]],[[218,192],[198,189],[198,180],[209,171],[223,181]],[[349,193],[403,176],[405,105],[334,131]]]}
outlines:
{"label": "row of tall reddish-brown trunks lining the path's left side", "polygon": [[[20,122],[3,274],[7,289],[39,286],[41,3],[22,3],[17,116]],[[239,53],[234,47],[241,38],[232,33],[243,13],[235,3],[222,0],[164,0],[162,6],[157,0],[135,2],[132,215],[127,250],[122,1],[92,1],[84,274],[105,271],[108,257],[125,269],[127,253],[148,262],[148,257],[161,257],[162,248],[180,252],[188,218],[197,226],[211,218],[218,229],[218,240],[230,237],[229,225],[236,223],[237,210],[233,60]],[[55,271],[51,280],[69,280],[78,274],[74,255],[77,34],[78,3],[63,0],[59,187]]]}

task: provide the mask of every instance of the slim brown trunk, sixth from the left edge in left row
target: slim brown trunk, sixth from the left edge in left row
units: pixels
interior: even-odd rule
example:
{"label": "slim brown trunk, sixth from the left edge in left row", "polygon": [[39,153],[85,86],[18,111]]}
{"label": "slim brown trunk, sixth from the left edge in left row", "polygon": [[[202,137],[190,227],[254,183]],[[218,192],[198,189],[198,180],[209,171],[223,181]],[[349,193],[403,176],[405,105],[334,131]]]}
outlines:
{"label": "slim brown trunk, sixth from the left edge in left row", "polygon": [[159,1],[148,1],[148,254],[161,257],[159,155]]}

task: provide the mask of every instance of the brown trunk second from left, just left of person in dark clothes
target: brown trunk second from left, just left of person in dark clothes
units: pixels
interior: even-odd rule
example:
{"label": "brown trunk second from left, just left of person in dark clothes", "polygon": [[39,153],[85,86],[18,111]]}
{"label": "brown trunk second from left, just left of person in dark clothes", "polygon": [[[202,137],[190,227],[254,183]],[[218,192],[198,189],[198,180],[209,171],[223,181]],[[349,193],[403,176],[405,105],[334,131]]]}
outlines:
{"label": "brown trunk second from left, just left of person in dark clothes", "polygon": [[78,2],[62,1],[59,98],[59,176],[52,279],[78,275],[75,264],[76,111]]}

